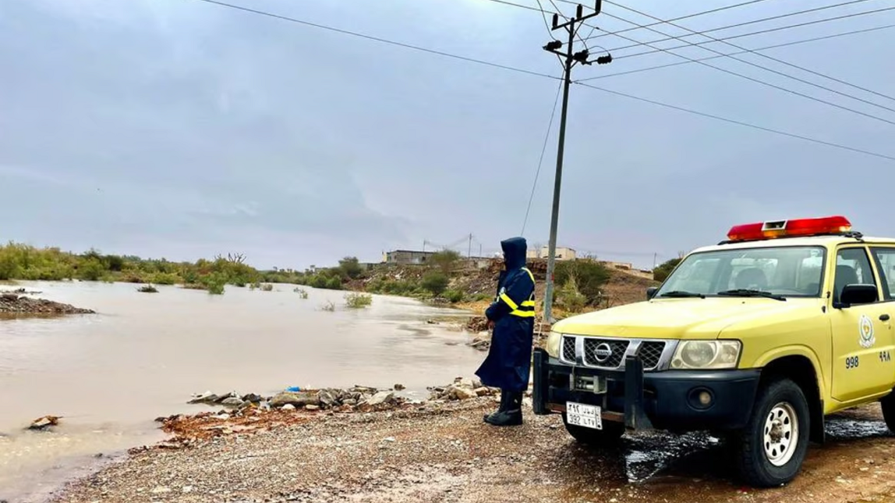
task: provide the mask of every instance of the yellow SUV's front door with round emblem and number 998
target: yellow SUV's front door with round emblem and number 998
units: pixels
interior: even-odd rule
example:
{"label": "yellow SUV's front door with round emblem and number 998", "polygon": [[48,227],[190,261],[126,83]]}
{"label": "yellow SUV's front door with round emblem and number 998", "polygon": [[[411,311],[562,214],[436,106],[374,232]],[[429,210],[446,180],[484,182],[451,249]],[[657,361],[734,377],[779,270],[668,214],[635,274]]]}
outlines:
{"label": "yellow SUV's front door with round emblem and number 998", "polygon": [[[864,246],[842,247],[836,252],[832,300],[839,301],[846,285],[879,282]],[[832,396],[848,402],[892,388],[891,316],[895,305],[883,302],[831,308],[833,371]]]}

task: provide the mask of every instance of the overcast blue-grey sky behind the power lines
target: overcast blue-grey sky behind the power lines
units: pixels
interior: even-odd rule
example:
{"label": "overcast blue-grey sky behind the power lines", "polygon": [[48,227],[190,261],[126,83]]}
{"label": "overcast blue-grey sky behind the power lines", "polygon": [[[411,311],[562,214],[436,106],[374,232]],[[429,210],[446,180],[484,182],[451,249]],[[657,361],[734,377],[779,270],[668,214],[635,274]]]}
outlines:
{"label": "overcast blue-grey sky behind the power lines", "polygon": [[[843,1],[764,0],[678,23],[708,30]],[[557,58],[541,50],[550,38],[540,14],[489,0],[232,2],[560,74]],[[669,19],[734,3],[626,5]],[[713,35],[893,5],[866,0]],[[652,21],[611,4],[603,11]],[[889,23],[895,11],[732,43],[766,47]],[[608,15],[592,24],[630,26]],[[592,43],[630,45],[618,36]],[[891,47],[895,29],[764,54],[895,97]],[[612,64],[577,67],[575,78],[680,61],[620,57],[643,50],[614,51]],[[738,57],[895,109],[890,98]],[[895,122],[891,110],[729,58],[707,63]],[[700,64],[589,83],[895,156],[893,124]],[[243,252],[262,268],[327,265],[346,254],[379,260],[384,250],[468,234],[473,253],[480,243],[494,252],[521,231],[557,89],[548,78],[199,0],[0,0],[0,239],[172,260]],[[547,243],[555,158],[554,129],[525,231],[530,243]],[[844,214],[866,234],[895,235],[885,210],[893,185],[895,161],[573,86],[558,241],[650,267],[653,253],[665,260],[763,219]]]}

